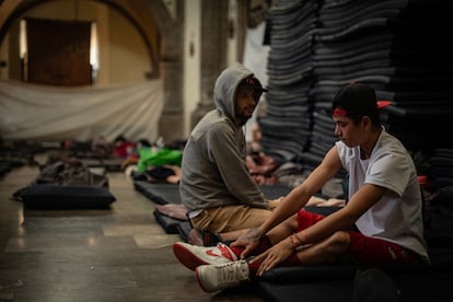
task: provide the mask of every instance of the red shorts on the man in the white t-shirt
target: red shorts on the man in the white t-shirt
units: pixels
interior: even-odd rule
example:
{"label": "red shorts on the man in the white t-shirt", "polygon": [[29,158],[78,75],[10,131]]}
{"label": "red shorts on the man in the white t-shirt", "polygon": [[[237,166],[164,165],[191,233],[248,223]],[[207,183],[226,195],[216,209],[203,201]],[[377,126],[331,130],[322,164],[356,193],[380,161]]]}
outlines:
{"label": "red shorts on the man in the white t-shirt", "polygon": [[[298,212],[298,231],[315,224],[323,218],[322,214],[300,210]],[[344,256],[357,264],[411,264],[419,260],[416,253],[395,243],[365,236],[357,231],[348,231],[348,233],[350,243]]]}

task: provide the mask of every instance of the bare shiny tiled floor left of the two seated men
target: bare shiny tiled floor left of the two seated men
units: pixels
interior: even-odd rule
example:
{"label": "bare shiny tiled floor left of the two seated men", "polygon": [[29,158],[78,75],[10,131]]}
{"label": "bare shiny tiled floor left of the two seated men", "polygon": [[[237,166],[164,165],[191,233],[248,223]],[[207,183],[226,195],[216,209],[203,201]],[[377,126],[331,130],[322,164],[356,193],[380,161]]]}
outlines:
{"label": "bare shiny tiled floor left of the two seated men", "polygon": [[105,210],[31,210],[12,194],[38,175],[15,167],[0,179],[0,301],[263,301],[251,288],[205,293],[173,255],[154,204],[120,172]]}

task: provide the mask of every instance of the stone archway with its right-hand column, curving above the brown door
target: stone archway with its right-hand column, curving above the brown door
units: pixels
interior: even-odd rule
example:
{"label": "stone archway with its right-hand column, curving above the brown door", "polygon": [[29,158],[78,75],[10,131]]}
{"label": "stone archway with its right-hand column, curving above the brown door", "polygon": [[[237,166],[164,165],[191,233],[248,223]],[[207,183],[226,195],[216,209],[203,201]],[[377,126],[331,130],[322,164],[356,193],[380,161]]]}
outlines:
{"label": "stone archway with its right-hand column, curving above the brown door", "polygon": [[[0,42],[11,24],[26,10],[48,0],[4,0],[1,3]],[[160,135],[165,141],[181,139],[183,133],[183,25],[184,0],[176,0],[176,15],[172,19],[162,1],[155,0],[93,0],[120,11],[132,21],[149,47],[151,57],[156,57],[151,78],[161,78],[164,83],[164,109],[160,121]],[[159,37],[150,30],[155,23]],[[152,24],[151,24],[152,25]]]}

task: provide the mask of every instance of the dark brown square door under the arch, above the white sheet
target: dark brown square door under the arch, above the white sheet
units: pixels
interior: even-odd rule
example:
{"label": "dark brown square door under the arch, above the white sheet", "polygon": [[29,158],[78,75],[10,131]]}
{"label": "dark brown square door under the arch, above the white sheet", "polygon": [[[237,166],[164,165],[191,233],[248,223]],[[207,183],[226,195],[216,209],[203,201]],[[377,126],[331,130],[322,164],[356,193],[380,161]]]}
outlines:
{"label": "dark brown square door under the arch, above the white sheet", "polygon": [[25,81],[91,85],[90,35],[91,22],[26,19]]}

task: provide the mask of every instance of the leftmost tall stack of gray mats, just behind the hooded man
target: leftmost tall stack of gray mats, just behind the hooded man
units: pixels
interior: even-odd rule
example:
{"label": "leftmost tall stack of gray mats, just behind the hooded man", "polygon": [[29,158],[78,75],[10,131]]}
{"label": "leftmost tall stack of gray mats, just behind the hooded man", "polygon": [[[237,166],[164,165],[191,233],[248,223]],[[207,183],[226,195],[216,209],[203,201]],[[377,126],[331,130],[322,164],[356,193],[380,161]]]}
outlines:
{"label": "leftmost tall stack of gray mats, just behind the hooded man", "polygon": [[[260,119],[265,153],[279,162],[299,161],[311,138],[313,34],[316,4],[292,1],[271,18],[266,117]],[[289,26],[290,24],[290,26]]]}

